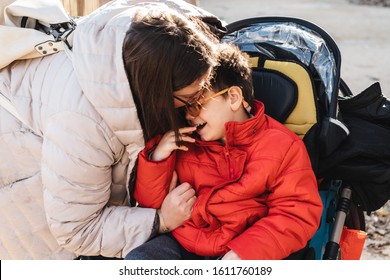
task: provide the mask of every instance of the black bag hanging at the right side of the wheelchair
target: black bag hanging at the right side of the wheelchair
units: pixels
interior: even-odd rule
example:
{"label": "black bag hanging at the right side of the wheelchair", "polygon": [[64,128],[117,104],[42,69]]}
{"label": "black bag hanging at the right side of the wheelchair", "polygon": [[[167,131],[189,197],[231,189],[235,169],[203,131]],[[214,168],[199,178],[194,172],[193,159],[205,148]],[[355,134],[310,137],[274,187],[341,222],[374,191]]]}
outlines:
{"label": "black bag hanging at the right side of the wheelchair", "polygon": [[350,184],[362,210],[377,210],[390,199],[390,100],[375,83],[339,106],[350,135],[321,161],[320,173]]}

